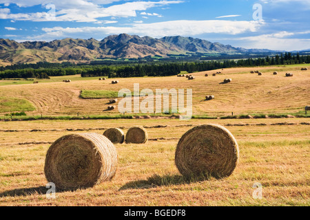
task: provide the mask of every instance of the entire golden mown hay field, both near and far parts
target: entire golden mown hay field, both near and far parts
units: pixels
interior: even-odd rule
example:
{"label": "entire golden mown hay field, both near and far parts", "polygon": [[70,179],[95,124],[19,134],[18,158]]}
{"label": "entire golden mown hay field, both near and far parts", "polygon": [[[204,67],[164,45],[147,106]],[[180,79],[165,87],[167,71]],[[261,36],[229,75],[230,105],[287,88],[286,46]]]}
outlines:
{"label": "entire golden mown hay field, both near and far parts", "polygon": [[[249,74],[260,70],[262,76]],[[118,91],[139,83],[140,89],[193,89],[194,114],[216,117],[241,114],[302,113],[310,100],[310,72],[300,66],[224,69],[186,78],[123,78],[111,80],[68,76],[38,84],[2,85],[1,98],[28,100],[28,115],[117,115],[104,111],[108,98],[83,99],[81,90]],[[273,72],[278,75],[273,76]],[[294,76],[286,78],[285,72]],[[63,83],[68,78],[72,83]],[[221,85],[225,78],[231,83]],[[1,80],[1,83],[6,80]],[[205,101],[207,94],[216,99]],[[102,94],[101,94],[102,95]],[[104,96],[106,94],[103,94]],[[2,112],[3,115],[6,112]],[[236,137],[240,160],[225,179],[185,179],[174,164],[176,144],[200,124],[225,126]],[[47,199],[43,172],[48,147],[70,133],[103,133],[110,127],[147,129],[146,144],[116,144],[118,169],[112,181],[74,191],[57,191]],[[0,206],[309,206],[309,118],[192,119],[169,117],[111,120],[0,121]],[[262,184],[262,199],[253,185]]]}

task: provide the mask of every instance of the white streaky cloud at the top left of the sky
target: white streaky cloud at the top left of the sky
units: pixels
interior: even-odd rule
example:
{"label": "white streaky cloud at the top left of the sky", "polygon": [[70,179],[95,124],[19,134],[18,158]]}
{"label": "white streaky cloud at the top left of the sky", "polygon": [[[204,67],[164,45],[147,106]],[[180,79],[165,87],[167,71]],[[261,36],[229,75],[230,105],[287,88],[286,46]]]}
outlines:
{"label": "white streaky cloud at the top left of the sky", "polygon": [[[19,0],[3,0],[4,3],[16,3],[19,7],[30,7],[33,5],[41,4],[45,7],[50,3],[50,0],[43,0],[40,3],[38,1],[19,1]],[[126,2],[110,7],[104,8],[102,5],[112,3],[118,0],[107,1],[86,1],[86,0],[54,0],[52,3],[55,5],[56,13],[54,17],[50,17],[49,10],[46,8],[46,12],[37,13],[18,13],[10,14],[8,8],[0,9],[0,19],[12,19],[15,21],[78,21],[78,22],[96,22],[97,19],[103,17],[136,17],[136,12],[141,10],[147,10],[156,6],[163,6],[169,4],[182,3],[183,1],[133,1]],[[152,16],[158,16],[159,14],[147,13]]]}

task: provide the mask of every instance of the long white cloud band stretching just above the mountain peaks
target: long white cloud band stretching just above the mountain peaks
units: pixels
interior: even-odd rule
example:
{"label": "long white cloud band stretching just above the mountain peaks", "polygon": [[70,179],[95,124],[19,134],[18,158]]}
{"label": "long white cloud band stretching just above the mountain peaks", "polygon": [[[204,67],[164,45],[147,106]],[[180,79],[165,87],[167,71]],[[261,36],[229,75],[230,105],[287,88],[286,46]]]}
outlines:
{"label": "long white cloud band stretching just above the mountain peaks", "polygon": [[140,36],[195,36],[206,33],[240,34],[256,32],[264,23],[259,21],[165,21],[159,23],[133,23],[127,27],[83,27],[83,28],[43,28],[45,34],[37,36],[39,39],[55,39],[68,37],[78,33],[92,33],[92,35],[108,34],[137,34]]}

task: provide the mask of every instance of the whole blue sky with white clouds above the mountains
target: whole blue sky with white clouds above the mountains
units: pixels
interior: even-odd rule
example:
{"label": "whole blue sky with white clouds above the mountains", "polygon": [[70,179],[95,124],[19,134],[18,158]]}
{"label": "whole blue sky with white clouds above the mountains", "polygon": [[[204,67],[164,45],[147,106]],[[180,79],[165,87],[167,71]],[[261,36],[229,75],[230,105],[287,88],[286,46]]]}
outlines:
{"label": "whole blue sky with white clouds above the mountains", "polygon": [[127,33],[306,50],[310,0],[0,0],[0,30],[0,38],[19,42]]}

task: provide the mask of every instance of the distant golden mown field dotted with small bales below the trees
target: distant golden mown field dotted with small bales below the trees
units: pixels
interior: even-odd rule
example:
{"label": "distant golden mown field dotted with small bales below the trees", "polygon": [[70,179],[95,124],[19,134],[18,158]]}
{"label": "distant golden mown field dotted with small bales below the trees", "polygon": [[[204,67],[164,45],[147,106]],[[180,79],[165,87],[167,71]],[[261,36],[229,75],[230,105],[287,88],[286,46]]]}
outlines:
{"label": "distant golden mown field dotted with small bales below the trees", "polygon": [[[250,74],[259,70],[262,76]],[[222,72],[211,76],[214,72]],[[278,75],[272,73],[278,71]],[[293,72],[293,77],[285,77],[286,72]],[[209,74],[205,77],[205,74]],[[300,66],[258,67],[218,69],[192,74],[195,80],[176,76],[118,78],[113,85],[112,79],[81,78],[79,76],[58,76],[50,80],[39,80],[38,84],[6,85],[7,80],[0,80],[0,97],[23,98],[32,102],[36,111],[28,115],[100,115],[107,109],[109,98],[83,99],[81,91],[112,91],[130,89],[134,83],[142,89],[193,89],[194,115],[236,115],[253,113],[294,113],[304,110],[310,100],[310,72],[300,71]],[[231,83],[220,84],[225,78],[232,78]],[[62,80],[70,79],[71,83]],[[15,80],[16,81],[16,80]],[[14,82],[13,82],[14,83]],[[16,82],[15,82],[16,83]],[[214,100],[205,100],[205,96],[214,95]],[[106,114],[117,114],[118,109]]]}

